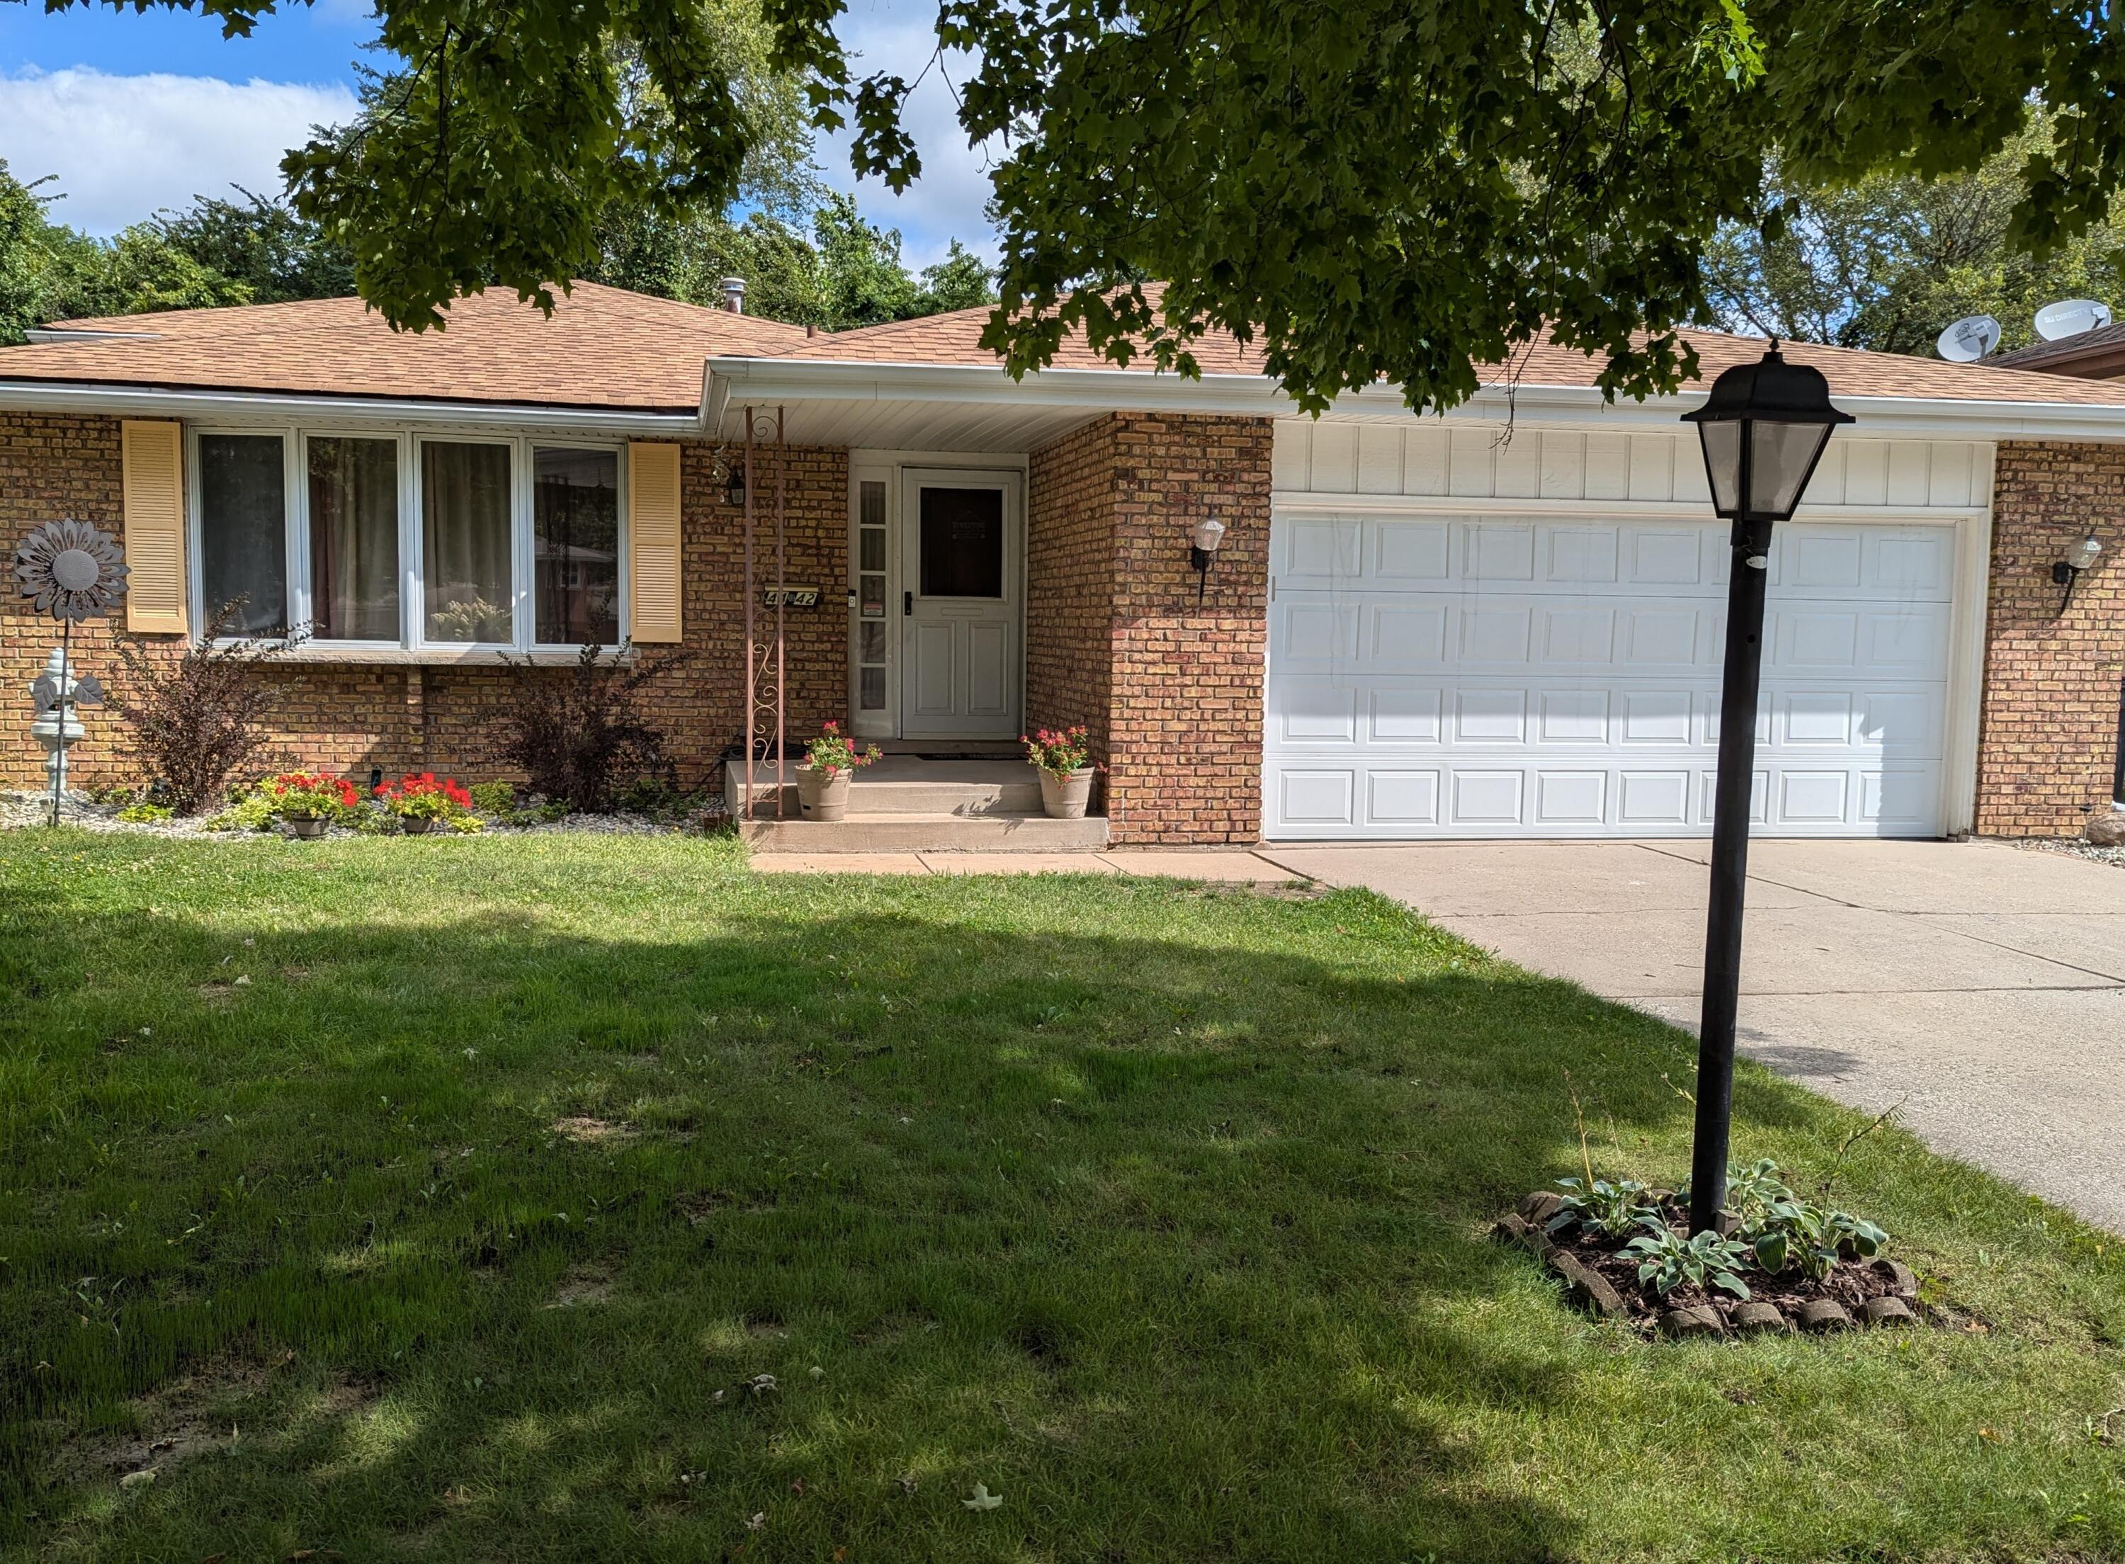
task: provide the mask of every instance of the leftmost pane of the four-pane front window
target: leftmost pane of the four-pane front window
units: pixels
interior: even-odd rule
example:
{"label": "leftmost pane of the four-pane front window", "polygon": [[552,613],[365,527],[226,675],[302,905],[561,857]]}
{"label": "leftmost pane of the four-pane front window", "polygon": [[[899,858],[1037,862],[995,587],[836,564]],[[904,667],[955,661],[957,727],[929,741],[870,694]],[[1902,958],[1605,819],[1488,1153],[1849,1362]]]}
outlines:
{"label": "leftmost pane of the four-pane front window", "polygon": [[200,436],[200,608],[225,635],[287,629],[287,444],[276,434]]}

